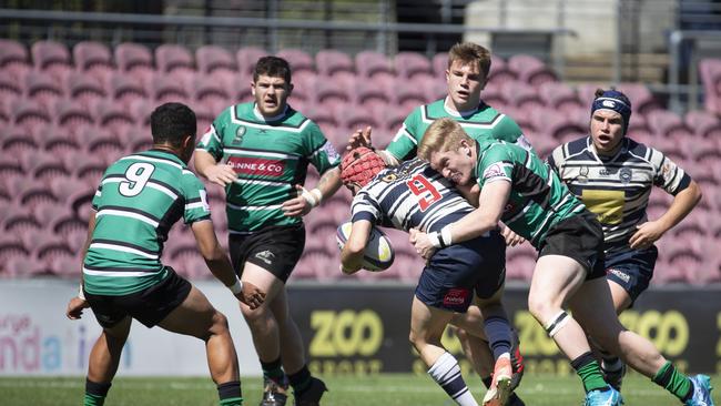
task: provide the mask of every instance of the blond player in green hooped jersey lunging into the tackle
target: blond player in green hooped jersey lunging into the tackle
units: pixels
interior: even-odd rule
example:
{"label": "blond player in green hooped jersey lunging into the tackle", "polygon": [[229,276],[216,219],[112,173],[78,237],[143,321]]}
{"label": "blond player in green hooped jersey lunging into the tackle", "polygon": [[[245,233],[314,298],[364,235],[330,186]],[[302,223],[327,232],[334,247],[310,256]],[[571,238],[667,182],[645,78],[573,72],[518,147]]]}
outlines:
{"label": "blond player in green hooped jersey lunging into the tackle", "polygon": [[683,375],[650,341],[619,323],[603,277],[601,225],[548,165],[516,145],[477,142],[449,119],[428,129],[418,155],[455,183],[477,182],[481,190],[471,214],[440,233],[412,234],[416,248],[429,257],[436,247],[480,235],[499,220],[534,244],[539,257],[528,307],[571,359],[586,405],[622,403],[620,393],[603,380],[586,333],[687,405],[712,404],[707,376]]}

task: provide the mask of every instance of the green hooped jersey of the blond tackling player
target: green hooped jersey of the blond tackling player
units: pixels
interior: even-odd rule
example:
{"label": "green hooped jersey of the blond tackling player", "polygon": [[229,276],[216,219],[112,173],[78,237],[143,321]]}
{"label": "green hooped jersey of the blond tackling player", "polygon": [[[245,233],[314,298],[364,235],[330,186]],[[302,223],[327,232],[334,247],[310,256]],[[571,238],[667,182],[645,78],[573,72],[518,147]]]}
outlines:
{"label": "green hooped jersey of the blond tackling player", "polygon": [[555,224],[586,209],[535,153],[502,141],[481,142],[476,148],[478,185],[510,182],[501,221],[536,248]]}

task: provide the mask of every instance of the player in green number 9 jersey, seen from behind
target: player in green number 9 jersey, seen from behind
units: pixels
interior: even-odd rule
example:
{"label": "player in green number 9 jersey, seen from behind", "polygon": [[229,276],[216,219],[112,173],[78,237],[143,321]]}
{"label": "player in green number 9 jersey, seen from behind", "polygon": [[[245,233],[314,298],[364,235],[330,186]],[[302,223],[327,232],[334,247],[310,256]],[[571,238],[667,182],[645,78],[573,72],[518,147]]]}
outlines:
{"label": "player in green number 9 jersey, seen from behind", "polygon": [[118,371],[133,318],[148,327],[205,342],[220,405],[242,405],[237,355],[227,319],[205,296],[160,262],[171,226],[183,219],[215,277],[250,307],[265,294],[241,283],[215,237],[205,189],[187,170],[195,145],[195,114],[166,103],[151,114],[153,149],[108,168],[92,202],[78,297],[67,315],[90,307],[103,331],[88,363],[84,405],[102,405]]}

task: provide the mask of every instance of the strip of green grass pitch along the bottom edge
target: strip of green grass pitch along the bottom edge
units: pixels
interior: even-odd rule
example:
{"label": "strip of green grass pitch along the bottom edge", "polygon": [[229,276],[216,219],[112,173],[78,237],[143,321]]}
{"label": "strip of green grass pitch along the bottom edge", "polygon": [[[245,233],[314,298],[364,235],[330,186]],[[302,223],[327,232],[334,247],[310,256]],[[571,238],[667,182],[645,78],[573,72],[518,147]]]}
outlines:
{"label": "strip of green grass pitch along the bottom edge", "polygon": [[[428,376],[385,374],[378,376],[323,376],[331,392],[323,398],[324,406],[450,406],[445,393]],[[466,379],[478,402],[483,398],[477,378]],[[721,375],[712,377],[721,385]],[[39,377],[0,378],[0,404],[20,405],[81,405],[84,378]],[[245,405],[256,406],[261,395],[261,379],[243,379]],[[575,405],[582,400],[582,390],[575,376],[527,375],[518,390],[531,405]],[[626,405],[679,405],[674,397],[638,374],[623,382]],[[714,402],[721,396],[714,390]],[[210,378],[123,378],[119,377],[105,403],[108,406],[197,405],[212,406],[217,394]],[[291,402],[288,402],[291,406]]]}

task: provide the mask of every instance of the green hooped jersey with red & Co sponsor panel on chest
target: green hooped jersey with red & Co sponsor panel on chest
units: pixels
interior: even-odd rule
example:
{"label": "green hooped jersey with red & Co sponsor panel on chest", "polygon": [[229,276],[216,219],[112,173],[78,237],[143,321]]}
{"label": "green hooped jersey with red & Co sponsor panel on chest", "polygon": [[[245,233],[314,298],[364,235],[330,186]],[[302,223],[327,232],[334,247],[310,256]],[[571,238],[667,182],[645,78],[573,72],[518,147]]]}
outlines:
{"label": "green hooped jersey with red & Co sponsor panel on chest", "polygon": [[295,184],[305,182],[308,163],[321,174],[341,163],[313,121],[291,106],[277,120],[265,121],[252,102],[224,110],[197,149],[237,174],[225,186],[225,211],[229,231],[240,234],[299,223],[284,215],[281,205],[295,195]]}

